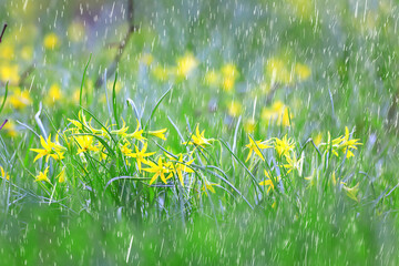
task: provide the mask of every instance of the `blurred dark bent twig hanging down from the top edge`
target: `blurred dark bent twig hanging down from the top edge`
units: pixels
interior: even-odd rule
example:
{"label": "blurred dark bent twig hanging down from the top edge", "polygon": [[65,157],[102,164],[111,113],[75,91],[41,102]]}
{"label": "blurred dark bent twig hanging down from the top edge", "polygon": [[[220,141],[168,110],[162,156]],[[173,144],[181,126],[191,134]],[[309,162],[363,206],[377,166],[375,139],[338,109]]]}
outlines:
{"label": "blurred dark bent twig hanging down from the top edge", "polygon": [[[126,48],[126,44],[127,44],[132,33],[137,30],[137,27],[134,25],[134,0],[127,0],[127,22],[129,22],[127,33],[126,33],[125,38],[123,38],[123,40],[119,43],[117,53],[109,66],[109,70],[108,70],[106,76],[105,76],[106,79],[112,76],[115,73],[116,66],[117,66],[119,62],[121,61],[122,54]],[[99,75],[98,80],[95,81],[95,88],[96,89],[101,88],[103,82],[104,82],[103,75]]]}

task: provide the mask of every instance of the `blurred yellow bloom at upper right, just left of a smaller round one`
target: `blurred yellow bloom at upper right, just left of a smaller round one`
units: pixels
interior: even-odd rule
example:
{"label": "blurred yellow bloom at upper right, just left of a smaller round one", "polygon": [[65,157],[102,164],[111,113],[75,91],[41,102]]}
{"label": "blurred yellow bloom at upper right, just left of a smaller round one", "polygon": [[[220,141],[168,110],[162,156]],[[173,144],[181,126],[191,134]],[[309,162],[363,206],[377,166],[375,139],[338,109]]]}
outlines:
{"label": "blurred yellow bloom at upper right, just left of a smaller round one", "polygon": [[293,76],[287,64],[277,58],[267,60],[266,76],[270,80],[272,85],[275,83],[289,85],[293,82]]}

